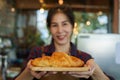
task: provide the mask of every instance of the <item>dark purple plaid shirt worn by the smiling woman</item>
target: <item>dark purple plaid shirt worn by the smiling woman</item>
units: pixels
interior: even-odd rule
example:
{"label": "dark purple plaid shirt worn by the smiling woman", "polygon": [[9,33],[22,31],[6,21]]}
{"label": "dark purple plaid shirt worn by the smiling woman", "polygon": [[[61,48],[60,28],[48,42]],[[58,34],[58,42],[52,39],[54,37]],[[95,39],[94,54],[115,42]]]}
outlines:
{"label": "dark purple plaid shirt worn by the smiling woman", "polygon": [[[89,59],[92,59],[91,55],[77,50],[76,46],[73,43],[70,43],[70,44],[71,44],[70,54],[72,56],[82,59],[85,63]],[[30,59],[37,58],[37,57],[41,57],[43,53],[47,56],[51,56],[54,51],[55,51],[55,46],[53,43],[51,43],[50,45],[44,46],[44,47],[35,47],[31,50],[27,61]]]}

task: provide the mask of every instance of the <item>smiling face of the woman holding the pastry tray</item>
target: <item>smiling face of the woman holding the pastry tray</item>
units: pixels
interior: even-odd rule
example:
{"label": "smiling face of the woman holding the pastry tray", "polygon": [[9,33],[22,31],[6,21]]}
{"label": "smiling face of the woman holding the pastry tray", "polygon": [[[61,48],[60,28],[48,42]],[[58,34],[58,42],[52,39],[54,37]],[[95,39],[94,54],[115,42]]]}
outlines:
{"label": "smiling face of the woman holding the pastry tray", "polygon": [[73,26],[67,16],[63,13],[56,13],[51,20],[50,32],[54,42],[65,45],[70,42]]}

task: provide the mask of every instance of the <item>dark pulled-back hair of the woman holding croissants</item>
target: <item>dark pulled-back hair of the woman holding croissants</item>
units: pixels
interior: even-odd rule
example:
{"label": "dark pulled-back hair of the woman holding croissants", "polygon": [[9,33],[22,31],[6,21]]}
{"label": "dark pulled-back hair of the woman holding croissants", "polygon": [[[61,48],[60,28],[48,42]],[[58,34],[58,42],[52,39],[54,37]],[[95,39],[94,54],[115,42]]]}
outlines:
{"label": "dark pulled-back hair of the woman holding croissants", "polygon": [[70,23],[72,24],[72,26],[74,26],[74,14],[72,9],[70,8],[70,6],[68,5],[58,5],[54,8],[51,8],[48,11],[48,15],[47,15],[47,27],[50,27],[51,24],[51,20],[52,17],[58,13],[58,12],[62,12],[63,14],[65,14],[67,16],[67,18],[69,19]]}

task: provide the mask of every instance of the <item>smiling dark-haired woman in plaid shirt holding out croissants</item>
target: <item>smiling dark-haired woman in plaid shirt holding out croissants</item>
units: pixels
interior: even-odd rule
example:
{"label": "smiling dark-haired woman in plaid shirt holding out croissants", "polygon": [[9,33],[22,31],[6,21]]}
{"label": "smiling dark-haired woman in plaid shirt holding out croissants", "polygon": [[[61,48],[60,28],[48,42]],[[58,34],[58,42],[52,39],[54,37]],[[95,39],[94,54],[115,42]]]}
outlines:
{"label": "smiling dark-haired woman in plaid shirt holding out croissants", "polygon": [[[62,5],[50,9],[47,16],[47,26],[52,35],[51,44],[33,48],[28,57],[28,64],[15,80],[110,80],[110,77],[103,73],[89,54],[78,51],[71,43],[70,39],[74,28],[74,15],[71,8]],[[42,53],[50,56],[55,51],[65,52],[82,59],[86,66],[90,66],[90,71],[58,73],[34,72],[30,69],[31,59],[41,57]]]}

